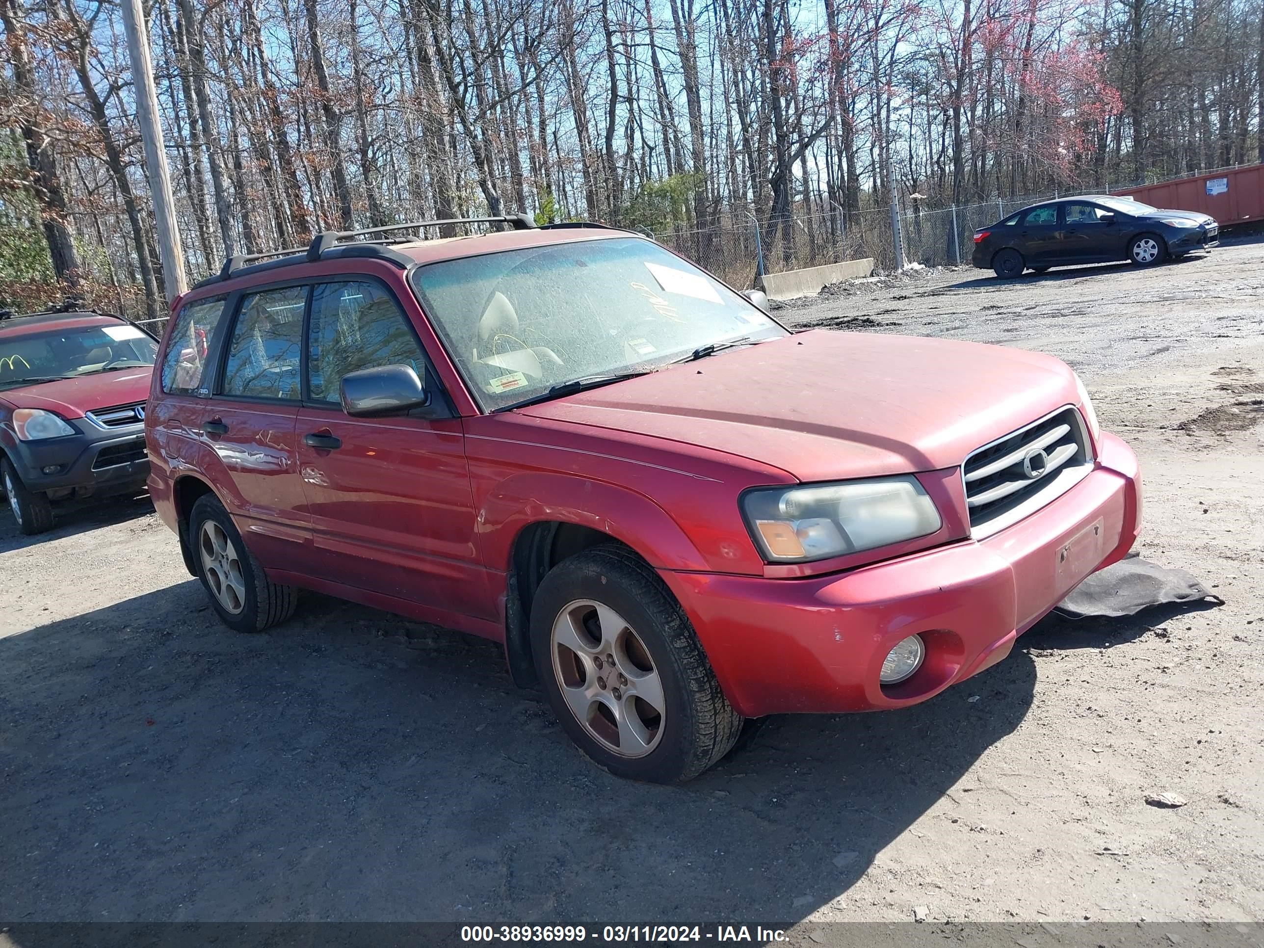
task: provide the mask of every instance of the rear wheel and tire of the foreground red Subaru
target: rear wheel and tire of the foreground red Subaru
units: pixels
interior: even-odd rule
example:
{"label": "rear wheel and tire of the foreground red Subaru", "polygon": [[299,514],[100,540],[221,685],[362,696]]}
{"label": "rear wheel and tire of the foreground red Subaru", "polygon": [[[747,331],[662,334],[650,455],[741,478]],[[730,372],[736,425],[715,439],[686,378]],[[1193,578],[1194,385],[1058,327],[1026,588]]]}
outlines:
{"label": "rear wheel and tire of the foreground red Subaru", "polygon": [[263,632],[295,614],[298,590],[268,579],[212,494],[198,498],[188,520],[197,578],[220,622],[238,632]]}

